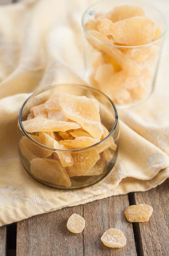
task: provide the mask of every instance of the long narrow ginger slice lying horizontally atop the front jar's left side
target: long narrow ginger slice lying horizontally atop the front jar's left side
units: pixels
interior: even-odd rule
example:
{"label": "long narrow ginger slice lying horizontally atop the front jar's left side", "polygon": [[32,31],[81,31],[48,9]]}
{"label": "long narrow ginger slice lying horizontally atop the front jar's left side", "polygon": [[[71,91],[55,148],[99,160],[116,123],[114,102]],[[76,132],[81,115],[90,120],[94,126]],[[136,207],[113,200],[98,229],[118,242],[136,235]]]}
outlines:
{"label": "long narrow ginger slice lying horizontally atop the front jar's left side", "polygon": [[74,122],[64,122],[45,118],[34,118],[25,120],[22,123],[25,131],[31,133],[37,131],[68,131],[80,128],[80,125]]}

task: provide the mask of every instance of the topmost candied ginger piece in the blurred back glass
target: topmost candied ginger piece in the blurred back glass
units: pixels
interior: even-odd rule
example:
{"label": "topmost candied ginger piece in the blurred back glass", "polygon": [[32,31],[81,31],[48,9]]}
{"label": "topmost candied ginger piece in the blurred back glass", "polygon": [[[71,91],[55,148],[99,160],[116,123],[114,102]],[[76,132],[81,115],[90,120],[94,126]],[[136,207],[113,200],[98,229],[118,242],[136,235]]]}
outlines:
{"label": "topmost candied ginger piece in the blurred back glass", "polygon": [[110,20],[117,22],[136,16],[145,16],[144,11],[140,6],[116,6],[111,13]]}

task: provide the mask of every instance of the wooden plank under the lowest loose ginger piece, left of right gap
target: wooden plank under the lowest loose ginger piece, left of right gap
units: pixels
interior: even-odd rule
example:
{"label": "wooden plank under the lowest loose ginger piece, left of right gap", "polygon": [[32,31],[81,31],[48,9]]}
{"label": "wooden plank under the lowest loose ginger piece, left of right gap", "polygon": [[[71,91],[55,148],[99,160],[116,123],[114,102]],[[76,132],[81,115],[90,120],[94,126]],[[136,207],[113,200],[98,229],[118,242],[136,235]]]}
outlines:
{"label": "wooden plank under the lowest loose ginger piece, left of right gap", "polygon": [[[128,196],[120,195],[84,204],[84,250],[85,256],[136,256],[132,224],[124,215],[129,206]],[[101,242],[101,236],[110,227],[118,228],[126,236],[123,248],[108,248]]]}

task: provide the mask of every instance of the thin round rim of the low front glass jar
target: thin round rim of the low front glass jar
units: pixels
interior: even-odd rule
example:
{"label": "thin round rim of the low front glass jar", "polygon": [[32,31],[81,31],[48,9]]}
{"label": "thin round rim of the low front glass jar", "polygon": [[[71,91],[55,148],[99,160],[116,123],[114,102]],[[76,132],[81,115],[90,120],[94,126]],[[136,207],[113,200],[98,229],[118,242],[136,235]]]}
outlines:
{"label": "thin round rim of the low front glass jar", "polygon": [[[36,140],[34,140],[33,138],[31,138],[29,136],[29,134],[25,131],[25,129],[23,128],[23,124],[22,124],[22,112],[23,112],[23,108],[25,107],[25,105],[27,104],[27,102],[34,98],[34,96],[37,96],[38,94],[44,92],[45,90],[50,90],[51,88],[54,88],[54,87],[57,87],[57,86],[60,86],[60,85],[66,85],[66,86],[78,86],[78,87],[81,87],[81,88],[84,88],[84,89],[88,89],[88,90],[93,90],[93,91],[96,91],[100,94],[102,94],[104,97],[106,97],[109,102],[111,103],[113,109],[114,109],[114,113],[115,113],[115,122],[114,122],[114,125],[113,125],[113,128],[112,130],[109,132],[109,134],[107,134],[107,136],[103,139],[103,140],[100,140],[98,143],[96,144],[93,144],[91,146],[88,146],[88,147],[85,147],[85,148],[77,148],[77,149],[58,149],[58,148],[51,148],[51,147],[48,147],[48,146],[45,146],[39,142],[37,142]],[[31,94],[31,96],[28,97],[28,99],[25,100],[25,102],[23,103],[22,107],[20,108],[20,112],[19,112],[19,124],[20,124],[20,128],[21,130],[23,131],[23,134],[25,135],[25,137],[27,137],[29,140],[31,140],[34,144],[37,144],[38,146],[42,147],[42,148],[45,148],[45,149],[48,149],[48,150],[52,150],[52,151],[61,151],[61,152],[66,152],[66,153],[76,153],[76,152],[79,152],[79,151],[87,151],[91,148],[95,148],[99,145],[101,145],[102,143],[104,143],[105,141],[108,140],[108,138],[113,134],[113,132],[115,131],[115,128],[117,127],[117,124],[118,124],[118,112],[117,112],[117,109],[114,105],[114,103],[112,102],[112,100],[107,96],[105,95],[104,93],[102,93],[101,91],[95,89],[95,88],[92,88],[90,86],[87,86],[87,85],[82,85],[82,84],[54,84],[54,85],[51,85],[51,86],[48,86],[48,87],[45,87],[44,89],[42,90],[38,90],[37,92]]]}

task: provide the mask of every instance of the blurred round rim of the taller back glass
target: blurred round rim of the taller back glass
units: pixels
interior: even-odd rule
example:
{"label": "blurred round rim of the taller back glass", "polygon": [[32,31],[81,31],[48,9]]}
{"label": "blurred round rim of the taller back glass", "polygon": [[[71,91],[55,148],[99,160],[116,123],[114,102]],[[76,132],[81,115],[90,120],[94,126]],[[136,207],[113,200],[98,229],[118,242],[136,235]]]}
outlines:
{"label": "blurred round rim of the taller back glass", "polygon": [[[84,31],[87,33],[87,35],[89,35],[92,39],[98,41],[99,43],[105,44],[105,45],[109,45],[109,46],[113,46],[113,47],[120,48],[120,49],[121,49],[121,48],[128,48],[128,49],[131,49],[131,48],[146,47],[146,46],[149,46],[149,45],[151,45],[151,44],[154,44],[154,43],[158,42],[158,41],[165,35],[166,29],[167,29],[167,22],[166,22],[166,18],[164,17],[163,13],[162,13],[159,9],[157,9],[156,7],[154,7],[153,5],[141,1],[141,3],[145,4],[146,6],[150,6],[150,7],[152,7],[153,9],[155,9],[156,11],[158,11],[159,14],[161,15],[161,17],[163,18],[163,21],[164,21],[164,30],[163,30],[163,33],[162,33],[157,39],[155,39],[155,40],[152,41],[152,42],[146,43],[146,44],[128,45],[128,46],[126,46],[126,45],[116,45],[116,44],[107,44],[107,43],[105,43],[105,42],[103,42],[103,41],[100,41],[99,39],[95,38],[93,35],[91,35],[91,34],[87,31],[87,29],[85,28],[84,19],[85,19],[85,15],[87,14],[87,12],[90,10],[91,7],[95,6],[95,5],[98,4],[98,3],[104,2],[104,1],[105,1],[105,0],[100,0],[100,1],[98,1],[98,2],[96,2],[96,3],[93,3],[92,5],[90,5],[90,6],[85,10],[85,12],[84,12],[83,15],[82,15],[82,27],[83,27]],[[107,0],[107,1],[112,1],[112,0]],[[139,2],[140,2],[140,1],[139,1]]]}

